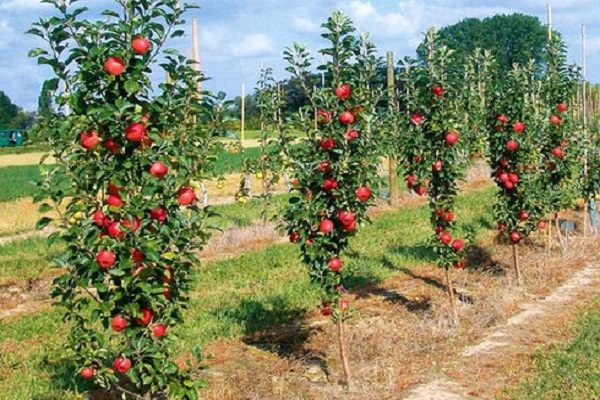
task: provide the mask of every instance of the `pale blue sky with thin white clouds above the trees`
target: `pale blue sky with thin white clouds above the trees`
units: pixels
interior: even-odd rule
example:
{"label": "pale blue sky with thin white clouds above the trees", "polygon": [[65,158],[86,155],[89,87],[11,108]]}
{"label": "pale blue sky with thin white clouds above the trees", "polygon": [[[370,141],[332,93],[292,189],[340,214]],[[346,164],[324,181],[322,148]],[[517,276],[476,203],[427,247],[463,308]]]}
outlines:
{"label": "pale blue sky with thin white clouds above the trees", "polygon": [[[341,10],[354,21],[359,32],[369,32],[382,55],[393,51],[396,59],[414,55],[428,27],[441,28],[467,17],[519,12],[546,21],[545,0],[187,0],[201,8],[186,16],[188,34],[170,43],[182,52],[191,49],[191,17],[200,28],[202,70],[210,78],[204,88],[240,94],[249,93],[259,79],[261,64],[274,69],[277,79],[286,78],[282,53],[294,42],[313,51],[322,46],[320,24],[331,12]],[[99,12],[115,0],[80,0],[79,4]],[[20,107],[34,111],[40,88],[52,77],[46,66],[29,59],[29,49],[43,43],[26,35],[32,22],[54,12],[40,0],[0,0],[0,91]],[[561,0],[553,4],[553,26],[568,45],[569,62],[581,60],[581,24],[587,26],[588,79],[600,82],[599,0]],[[156,77],[161,79],[161,77]]]}

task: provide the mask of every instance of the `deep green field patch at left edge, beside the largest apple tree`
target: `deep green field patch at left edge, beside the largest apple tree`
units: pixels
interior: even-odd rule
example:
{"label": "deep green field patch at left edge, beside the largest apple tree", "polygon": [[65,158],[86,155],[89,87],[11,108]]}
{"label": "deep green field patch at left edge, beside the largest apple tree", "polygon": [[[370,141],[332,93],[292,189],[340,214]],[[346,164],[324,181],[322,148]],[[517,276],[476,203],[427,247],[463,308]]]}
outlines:
{"label": "deep green field patch at left edge, beside the largest apple tree", "polygon": [[38,165],[0,168],[0,202],[35,196],[39,189],[32,182],[40,179]]}

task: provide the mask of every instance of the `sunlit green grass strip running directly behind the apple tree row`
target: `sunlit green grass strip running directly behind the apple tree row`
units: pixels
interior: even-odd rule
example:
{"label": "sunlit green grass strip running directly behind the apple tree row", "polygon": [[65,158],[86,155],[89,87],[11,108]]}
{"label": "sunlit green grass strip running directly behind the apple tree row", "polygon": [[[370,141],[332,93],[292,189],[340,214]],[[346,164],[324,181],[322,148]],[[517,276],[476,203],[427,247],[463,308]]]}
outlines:
{"label": "sunlit green grass strip running directly behind the apple tree row", "polygon": [[[478,237],[487,234],[493,192],[479,190],[458,199],[463,235],[466,228]],[[230,207],[223,209],[224,215],[240,211]],[[345,285],[360,288],[402,274],[393,265],[410,269],[430,263],[432,255],[422,250],[430,235],[423,223],[428,212],[426,205],[404,207],[376,216],[373,224],[361,229],[351,241],[352,257],[346,258],[351,277]],[[320,293],[310,284],[298,256],[295,246],[273,244],[198,268],[186,322],[176,330],[181,338],[178,352],[297,320],[314,310]],[[12,262],[16,261],[5,260]],[[12,265],[6,268],[15,270]],[[0,358],[0,399],[75,398],[76,388],[82,386],[72,383],[74,371],[65,367],[68,354],[60,343],[66,329],[56,309],[0,321],[0,352],[6,354]]]}

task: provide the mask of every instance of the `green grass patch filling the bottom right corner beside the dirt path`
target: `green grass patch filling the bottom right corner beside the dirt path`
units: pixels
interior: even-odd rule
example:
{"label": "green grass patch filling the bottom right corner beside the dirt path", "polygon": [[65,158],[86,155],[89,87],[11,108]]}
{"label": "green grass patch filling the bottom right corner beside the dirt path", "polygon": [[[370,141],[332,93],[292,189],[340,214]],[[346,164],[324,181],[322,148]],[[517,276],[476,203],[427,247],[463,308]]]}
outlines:
{"label": "green grass patch filling the bottom right corner beside the dirt path", "polygon": [[600,297],[579,315],[575,339],[536,356],[536,376],[506,398],[511,400],[600,399]]}

